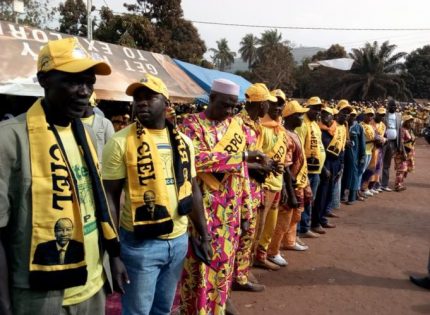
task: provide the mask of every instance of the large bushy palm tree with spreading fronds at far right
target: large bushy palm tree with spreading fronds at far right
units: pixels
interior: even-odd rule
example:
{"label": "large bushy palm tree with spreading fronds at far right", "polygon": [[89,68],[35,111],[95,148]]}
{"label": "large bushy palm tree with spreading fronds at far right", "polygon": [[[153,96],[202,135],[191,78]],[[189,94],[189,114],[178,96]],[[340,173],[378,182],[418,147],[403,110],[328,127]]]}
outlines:
{"label": "large bushy palm tree with spreading fronds at far right", "polygon": [[[366,43],[349,54],[354,66],[341,83],[339,94],[349,99],[385,99],[393,96],[405,99],[411,96],[401,75],[404,64],[400,63],[406,53],[393,55],[396,45],[388,41],[379,46],[378,42]],[[340,96],[338,95],[338,96]]]}

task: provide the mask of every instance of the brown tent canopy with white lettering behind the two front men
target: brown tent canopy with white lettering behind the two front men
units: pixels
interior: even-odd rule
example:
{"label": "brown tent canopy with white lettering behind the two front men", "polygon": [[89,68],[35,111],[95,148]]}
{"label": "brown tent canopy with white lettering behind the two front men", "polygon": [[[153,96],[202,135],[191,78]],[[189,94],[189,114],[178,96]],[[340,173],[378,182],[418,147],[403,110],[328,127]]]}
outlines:
{"label": "brown tent canopy with white lettering behind the two front men", "polygon": [[[42,96],[36,77],[39,50],[48,40],[65,37],[70,35],[0,21],[0,94]],[[205,94],[169,56],[77,38],[89,53],[112,67],[111,75],[97,77],[98,99],[130,101],[125,89],[144,73],[161,78],[174,102],[192,101]]]}

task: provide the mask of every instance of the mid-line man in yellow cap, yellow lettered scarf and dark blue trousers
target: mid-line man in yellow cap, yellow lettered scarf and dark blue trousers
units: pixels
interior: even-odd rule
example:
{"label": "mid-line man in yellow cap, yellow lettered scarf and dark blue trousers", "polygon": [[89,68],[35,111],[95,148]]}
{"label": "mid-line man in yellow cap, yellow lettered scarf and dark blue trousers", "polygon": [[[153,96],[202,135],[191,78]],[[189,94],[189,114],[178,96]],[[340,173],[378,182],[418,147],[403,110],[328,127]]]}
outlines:
{"label": "mid-line man in yellow cap, yellow lettered scarf and dark blue trousers", "polygon": [[[303,124],[297,128],[296,132],[305,148],[308,177],[312,194],[315,198],[325,161],[325,149],[321,141],[321,130],[317,123],[317,119],[321,114],[322,102],[319,97],[313,96],[306,102],[306,107],[309,108],[309,111],[305,113]],[[310,230],[311,215],[312,205],[310,204],[302,212],[299,230],[301,237],[318,237],[318,234]],[[323,232],[322,229],[319,229],[319,232]]]}

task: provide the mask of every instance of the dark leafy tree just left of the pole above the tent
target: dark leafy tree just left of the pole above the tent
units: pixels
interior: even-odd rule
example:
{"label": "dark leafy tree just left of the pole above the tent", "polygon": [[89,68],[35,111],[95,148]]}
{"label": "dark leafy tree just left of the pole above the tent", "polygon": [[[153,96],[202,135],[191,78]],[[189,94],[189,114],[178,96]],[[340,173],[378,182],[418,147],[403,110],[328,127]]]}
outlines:
{"label": "dark leafy tree just left of the pole above the tent", "polygon": [[76,36],[87,36],[87,6],[83,0],[66,0],[58,6],[59,31]]}

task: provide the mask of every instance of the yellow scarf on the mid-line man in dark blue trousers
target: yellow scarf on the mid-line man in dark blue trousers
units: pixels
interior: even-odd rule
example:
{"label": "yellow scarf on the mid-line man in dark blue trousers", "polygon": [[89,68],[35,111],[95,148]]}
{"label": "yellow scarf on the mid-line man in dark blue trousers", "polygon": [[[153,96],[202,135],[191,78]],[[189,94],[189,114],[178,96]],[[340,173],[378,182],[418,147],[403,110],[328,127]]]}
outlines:
{"label": "yellow scarf on the mid-line man in dark blue trousers", "polygon": [[320,145],[321,145],[321,130],[315,121],[310,121],[305,115],[304,124],[306,124],[307,133],[305,140],[305,153],[309,171],[317,171],[320,168],[322,161]]}

